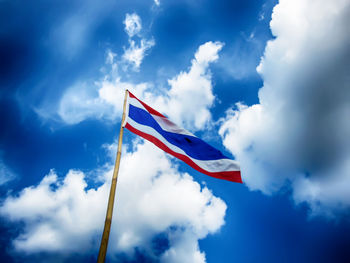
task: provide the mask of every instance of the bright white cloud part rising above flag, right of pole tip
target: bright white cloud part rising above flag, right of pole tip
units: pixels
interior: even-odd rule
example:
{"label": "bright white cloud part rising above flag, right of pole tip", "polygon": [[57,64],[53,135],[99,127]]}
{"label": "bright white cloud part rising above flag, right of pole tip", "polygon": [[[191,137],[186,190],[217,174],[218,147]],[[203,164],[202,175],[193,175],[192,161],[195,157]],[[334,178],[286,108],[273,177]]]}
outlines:
{"label": "bright white cloud part rising above flag, right of pole tip", "polygon": [[171,88],[165,95],[144,96],[177,124],[189,129],[204,128],[211,120],[209,109],[215,99],[208,67],[219,58],[218,52],[222,47],[223,43],[212,41],[201,45],[189,71],[181,72],[168,81]]}

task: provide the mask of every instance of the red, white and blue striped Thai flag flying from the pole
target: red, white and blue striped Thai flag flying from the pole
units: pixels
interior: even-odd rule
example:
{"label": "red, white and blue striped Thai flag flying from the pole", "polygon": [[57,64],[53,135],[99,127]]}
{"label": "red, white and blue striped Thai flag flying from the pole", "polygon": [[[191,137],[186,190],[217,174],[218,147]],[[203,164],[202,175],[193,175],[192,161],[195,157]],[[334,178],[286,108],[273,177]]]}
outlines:
{"label": "red, white and blue striped Thai flag flying from the pole", "polygon": [[236,161],[229,159],[189,131],[128,92],[123,127],[154,143],[197,171],[219,179],[242,183]]}

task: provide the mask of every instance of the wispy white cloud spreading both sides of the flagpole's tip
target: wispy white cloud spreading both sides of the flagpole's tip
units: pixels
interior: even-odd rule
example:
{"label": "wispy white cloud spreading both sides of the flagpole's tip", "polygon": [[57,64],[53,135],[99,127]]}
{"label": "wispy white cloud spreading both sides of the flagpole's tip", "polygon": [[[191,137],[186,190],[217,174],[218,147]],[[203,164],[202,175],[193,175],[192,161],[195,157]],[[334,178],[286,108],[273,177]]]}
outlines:
{"label": "wispy white cloud spreading both sides of the flagpole's tip", "polygon": [[122,81],[116,55],[109,51],[106,64],[111,67],[110,73],[92,85],[78,83],[69,88],[60,101],[58,114],[68,124],[88,118],[116,120],[121,116],[124,92],[128,89],[178,124],[192,130],[202,129],[211,120],[209,109],[215,99],[209,65],[218,59],[222,47],[222,43],[211,41],[201,45],[191,68],[170,79],[170,89],[158,91],[157,96],[153,95],[152,83]]}

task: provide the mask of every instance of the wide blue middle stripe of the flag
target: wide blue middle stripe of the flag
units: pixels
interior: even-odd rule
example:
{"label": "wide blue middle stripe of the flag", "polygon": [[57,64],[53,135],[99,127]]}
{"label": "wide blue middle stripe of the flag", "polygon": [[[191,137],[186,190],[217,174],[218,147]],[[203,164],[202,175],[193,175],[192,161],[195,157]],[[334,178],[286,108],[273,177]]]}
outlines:
{"label": "wide blue middle stripe of the flag", "polygon": [[201,139],[189,135],[163,130],[149,112],[129,104],[129,118],[139,124],[150,126],[161,134],[169,143],[181,148],[188,156],[197,160],[229,159],[219,150]]}

